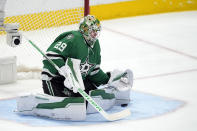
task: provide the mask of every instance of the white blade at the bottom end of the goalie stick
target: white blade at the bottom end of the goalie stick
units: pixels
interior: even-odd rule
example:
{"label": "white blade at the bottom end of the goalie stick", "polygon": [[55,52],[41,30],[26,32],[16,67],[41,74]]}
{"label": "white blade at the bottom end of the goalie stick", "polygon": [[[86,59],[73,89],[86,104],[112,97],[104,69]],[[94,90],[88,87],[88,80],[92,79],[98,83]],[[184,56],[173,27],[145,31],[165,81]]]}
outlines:
{"label": "white blade at the bottom end of the goalie stick", "polygon": [[126,110],[123,110],[121,112],[117,112],[114,114],[107,114],[105,118],[109,121],[116,121],[116,120],[123,119],[130,115],[131,115],[131,111],[129,109],[126,109]]}

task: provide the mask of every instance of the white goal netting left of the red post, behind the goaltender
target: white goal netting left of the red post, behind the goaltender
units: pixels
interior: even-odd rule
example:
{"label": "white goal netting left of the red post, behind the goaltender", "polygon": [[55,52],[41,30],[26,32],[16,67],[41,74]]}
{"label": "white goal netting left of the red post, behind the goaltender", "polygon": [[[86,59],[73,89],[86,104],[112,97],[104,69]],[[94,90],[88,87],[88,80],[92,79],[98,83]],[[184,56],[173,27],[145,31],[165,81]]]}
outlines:
{"label": "white goal netting left of the red post, behind the goaltender", "polygon": [[[84,17],[85,0],[1,0],[4,24],[19,23],[19,31],[46,51],[61,33],[76,30]],[[5,5],[3,5],[5,4]],[[17,79],[39,78],[42,56],[25,39],[17,47],[6,44],[6,32],[0,31],[0,57],[16,56]]]}

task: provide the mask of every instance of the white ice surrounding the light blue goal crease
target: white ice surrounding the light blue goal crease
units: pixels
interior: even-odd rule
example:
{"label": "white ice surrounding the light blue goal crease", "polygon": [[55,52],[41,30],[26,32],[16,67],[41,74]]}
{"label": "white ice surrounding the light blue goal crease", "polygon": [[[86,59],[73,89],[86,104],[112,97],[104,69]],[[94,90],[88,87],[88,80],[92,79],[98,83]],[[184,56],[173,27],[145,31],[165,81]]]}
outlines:
{"label": "white ice surrounding the light blue goal crease", "polygon": [[[154,118],[90,126],[30,127],[0,120],[1,131],[197,130],[197,11],[108,20],[102,21],[102,25],[104,71],[130,68],[135,76],[134,90],[183,100],[187,104]],[[0,99],[41,91],[39,80],[19,80],[0,85]]]}

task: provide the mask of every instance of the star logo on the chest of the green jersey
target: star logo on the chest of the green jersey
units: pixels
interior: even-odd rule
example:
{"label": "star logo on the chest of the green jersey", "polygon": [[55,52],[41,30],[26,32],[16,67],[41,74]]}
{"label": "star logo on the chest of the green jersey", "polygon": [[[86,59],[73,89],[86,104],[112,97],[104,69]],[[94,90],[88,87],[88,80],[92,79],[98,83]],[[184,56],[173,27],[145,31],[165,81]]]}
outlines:
{"label": "star logo on the chest of the green jersey", "polygon": [[80,71],[81,74],[85,74],[88,75],[88,72],[90,71],[90,69],[92,67],[94,67],[95,64],[92,64],[89,62],[88,57],[86,58],[86,60],[84,61],[84,63],[80,64]]}

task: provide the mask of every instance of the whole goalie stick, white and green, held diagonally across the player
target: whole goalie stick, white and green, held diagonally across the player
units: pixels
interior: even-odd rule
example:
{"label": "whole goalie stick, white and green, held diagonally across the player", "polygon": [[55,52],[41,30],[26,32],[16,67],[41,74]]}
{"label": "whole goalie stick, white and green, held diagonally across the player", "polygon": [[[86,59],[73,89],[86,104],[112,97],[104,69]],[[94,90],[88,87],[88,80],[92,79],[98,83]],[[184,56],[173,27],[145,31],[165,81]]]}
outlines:
{"label": "whole goalie stick, white and green, held diagonally across the player", "polygon": [[[24,36],[24,35],[23,35]],[[37,46],[35,45],[31,40],[29,40],[27,37],[24,36],[24,38],[40,53],[42,54],[43,57],[45,57],[58,71],[61,72],[60,68],[51,60],[49,59],[44,53],[43,51]],[[76,77],[73,76],[73,79],[77,79]],[[76,80],[77,82],[78,80]],[[75,84],[74,84],[75,85]],[[107,119],[108,121],[115,121],[115,120],[119,120],[122,118],[125,118],[129,115],[131,115],[131,112],[129,109],[125,109],[121,112],[117,112],[117,113],[113,113],[113,114],[108,114],[107,112],[105,112],[103,110],[102,107],[100,107],[92,98],[91,96],[89,96],[84,90],[82,90],[81,88],[78,88],[77,91],[84,97],[84,99],[86,99],[105,119]]]}

